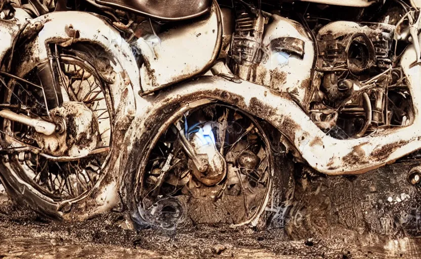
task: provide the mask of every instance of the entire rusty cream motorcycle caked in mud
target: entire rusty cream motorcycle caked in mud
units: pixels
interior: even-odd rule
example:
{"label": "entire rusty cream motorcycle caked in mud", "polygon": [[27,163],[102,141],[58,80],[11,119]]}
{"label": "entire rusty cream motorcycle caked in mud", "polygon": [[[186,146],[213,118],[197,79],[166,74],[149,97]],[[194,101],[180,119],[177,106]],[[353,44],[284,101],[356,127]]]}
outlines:
{"label": "entire rusty cream motorcycle caked in mud", "polygon": [[59,219],[283,219],[294,162],[356,175],[420,149],[419,7],[6,2],[0,179]]}

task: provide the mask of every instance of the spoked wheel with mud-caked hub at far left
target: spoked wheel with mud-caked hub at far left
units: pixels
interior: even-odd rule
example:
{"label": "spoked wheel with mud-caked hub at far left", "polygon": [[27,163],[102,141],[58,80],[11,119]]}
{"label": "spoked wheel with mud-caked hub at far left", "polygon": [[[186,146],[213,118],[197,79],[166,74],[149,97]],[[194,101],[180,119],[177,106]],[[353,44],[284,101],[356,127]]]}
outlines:
{"label": "spoked wheel with mud-caked hub at far left", "polygon": [[57,52],[54,62],[63,100],[58,107],[49,105],[46,96],[54,89],[39,79],[39,66],[24,80],[12,78],[3,99],[3,106],[13,112],[57,125],[47,136],[13,119],[0,120],[2,139],[11,151],[3,157],[6,188],[53,217],[57,204],[80,199],[98,183],[111,144],[109,95],[101,76],[79,54]]}

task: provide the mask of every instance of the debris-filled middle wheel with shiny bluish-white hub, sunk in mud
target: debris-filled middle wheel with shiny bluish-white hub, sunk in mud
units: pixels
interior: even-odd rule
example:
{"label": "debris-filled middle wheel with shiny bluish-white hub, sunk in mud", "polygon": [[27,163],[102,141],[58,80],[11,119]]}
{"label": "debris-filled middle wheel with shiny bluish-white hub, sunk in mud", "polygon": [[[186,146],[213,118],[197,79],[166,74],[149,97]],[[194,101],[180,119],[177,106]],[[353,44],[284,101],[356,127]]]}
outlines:
{"label": "debris-filled middle wheel with shiny bluish-white hub, sunk in mud", "polygon": [[138,224],[242,225],[258,220],[271,188],[270,144],[258,121],[223,104],[185,113],[160,136],[141,173]]}

